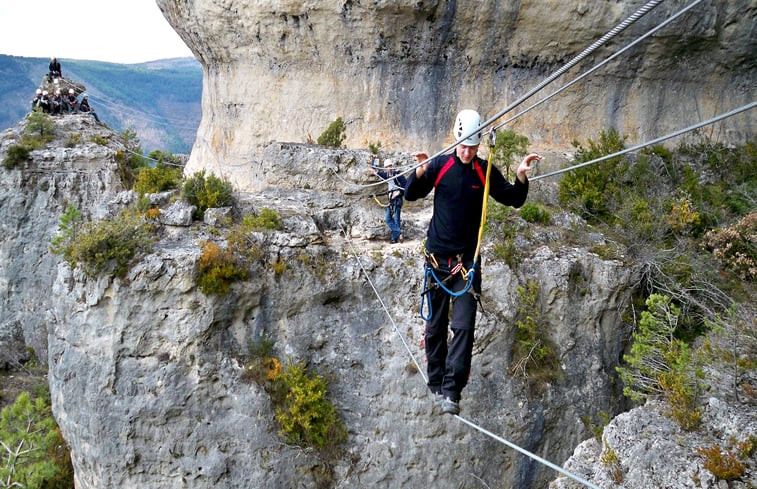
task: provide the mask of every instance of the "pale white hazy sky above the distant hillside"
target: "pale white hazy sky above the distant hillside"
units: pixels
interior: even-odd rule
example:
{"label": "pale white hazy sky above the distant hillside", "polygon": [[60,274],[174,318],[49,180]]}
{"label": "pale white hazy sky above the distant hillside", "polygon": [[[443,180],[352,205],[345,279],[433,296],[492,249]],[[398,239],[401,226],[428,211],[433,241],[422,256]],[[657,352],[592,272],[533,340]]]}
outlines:
{"label": "pale white hazy sky above the distant hillside", "polygon": [[126,64],[193,56],[155,0],[0,0],[0,54]]}

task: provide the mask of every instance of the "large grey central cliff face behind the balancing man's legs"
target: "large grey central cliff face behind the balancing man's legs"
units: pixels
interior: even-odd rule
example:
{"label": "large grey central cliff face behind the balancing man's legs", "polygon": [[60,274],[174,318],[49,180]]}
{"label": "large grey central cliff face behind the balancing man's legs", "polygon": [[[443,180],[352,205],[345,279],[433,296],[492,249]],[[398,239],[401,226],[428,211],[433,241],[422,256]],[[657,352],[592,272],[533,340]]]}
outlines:
{"label": "large grey central cliff face behind the balancing man's legs", "polygon": [[[303,187],[338,186],[335,177],[324,177],[329,166],[348,173],[361,168],[362,155],[346,150],[274,144],[265,152],[272,169],[311,168],[310,176],[289,179]],[[315,161],[321,164],[308,165]],[[207,225],[167,227],[124,280],[87,279],[58,267],[49,378],[77,487],[318,487],[316,454],[282,443],[268,394],[242,379],[249,344],[263,335],[278,357],[334,379],[330,397],[349,441],[330,487],[457,488],[474,474],[489,487],[526,488],[554,477],[432,413],[402,342],[425,369],[417,240],[392,248],[367,241],[383,236],[383,213],[359,196],[282,183],[242,197],[240,212],[273,207],[285,230],[256,234],[263,265],[227,296],[207,297],[194,282],[199,243],[219,239]],[[422,236],[428,213],[408,205],[405,214],[410,237]],[[479,317],[463,413],[560,461],[588,436],[581,416],[620,409],[611,373],[633,272],[578,248],[534,247],[517,270],[486,263],[486,314]],[[273,270],[276,258],[287,270]],[[588,295],[576,287],[578,276],[592,284]],[[540,307],[562,362],[559,380],[533,398],[508,374],[516,287],[525,280],[543,288]]]}

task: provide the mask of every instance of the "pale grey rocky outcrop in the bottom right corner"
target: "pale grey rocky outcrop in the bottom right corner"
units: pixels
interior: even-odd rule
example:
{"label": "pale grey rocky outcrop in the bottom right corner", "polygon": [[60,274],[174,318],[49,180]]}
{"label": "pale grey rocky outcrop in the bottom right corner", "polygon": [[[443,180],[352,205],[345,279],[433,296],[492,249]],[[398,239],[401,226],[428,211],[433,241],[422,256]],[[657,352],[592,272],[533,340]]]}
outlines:
{"label": "pale grey rocky outcrop in the bottom right corner", "polygon": [[[747,489],[754,487],[754,456],[745,457],[746,470],[733,481],[718,480],[703,469],[704,456],[698,450],[717,445],[727,460],[738,453],[736,443],[750,443],[757,433],[754,406],[749,402],[728,399],[722,390],[709,397],[702,406],[704,429],[686,432],[673,422],[660,402],[620,414],[605,426],[602,443],[591,438],[581,443],[565,468],[573,474],[591,480],[598,487],[636,489],[639,487],[674,487],[707,489]],[[753,442],[753,441],[752,441]],[[611,458],[608,454],[614,454]],[[616,460],[617,462],[609,462]],[[660,461],[665,470],[659,470]],[[549,485],[550,489],[578,489],[576,482],[561,477]]]}

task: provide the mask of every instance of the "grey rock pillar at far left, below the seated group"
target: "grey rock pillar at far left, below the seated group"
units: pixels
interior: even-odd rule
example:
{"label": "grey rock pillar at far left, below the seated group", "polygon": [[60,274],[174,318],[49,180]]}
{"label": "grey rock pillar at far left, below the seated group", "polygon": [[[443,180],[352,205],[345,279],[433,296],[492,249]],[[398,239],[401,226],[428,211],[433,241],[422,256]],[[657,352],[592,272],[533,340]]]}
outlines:
{"label": "grey rock pillar at far left, below the seated group", "polygon": [[[41,359],[47,356],[52,288],[59,257],[49,251],[60,216],[69,205],[85,219],[102,218],[122,204],[116,153],[124,147],[113,132],[86,114],[54,119],[55,139],[31,152],[23,170],[0,170],[0,367],[17,366],[28,345]],[[0,136],[0,151],[18,141],[25,123]],[[73,137],[81,144],[67,144]],[[99,139],[98,139],[99,138]],[[98,144],[92,140],[104,141]],[[13,346],[15,345],[15,346]]]}

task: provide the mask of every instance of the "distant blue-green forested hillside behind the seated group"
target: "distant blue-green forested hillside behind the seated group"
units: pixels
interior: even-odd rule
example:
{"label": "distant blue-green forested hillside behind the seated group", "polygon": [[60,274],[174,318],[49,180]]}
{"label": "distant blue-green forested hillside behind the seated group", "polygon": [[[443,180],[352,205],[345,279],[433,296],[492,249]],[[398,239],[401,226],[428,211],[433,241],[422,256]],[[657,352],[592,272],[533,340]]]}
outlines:
{"label": "distant blue-green forested hillside behind the seated group", "polygon": [[[0,55],[0,129],[14,126],[47,73],[48,58]],[[100,119],[134,129],[145,153],[188,153],[202,113],[202,67],[193,58],[117,64],[59,59],[65,78],[82,83]]]}

